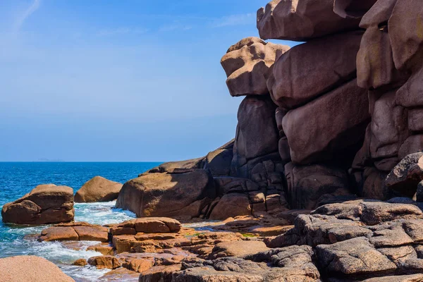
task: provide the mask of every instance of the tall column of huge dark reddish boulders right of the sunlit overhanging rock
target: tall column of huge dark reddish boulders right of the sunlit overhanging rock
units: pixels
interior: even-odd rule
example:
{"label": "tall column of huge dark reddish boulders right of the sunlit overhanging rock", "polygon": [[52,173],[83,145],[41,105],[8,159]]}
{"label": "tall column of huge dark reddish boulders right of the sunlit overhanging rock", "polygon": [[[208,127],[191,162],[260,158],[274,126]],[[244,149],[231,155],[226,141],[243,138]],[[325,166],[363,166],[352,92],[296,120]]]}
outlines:
{"label": "tall column of huge dark reddish boulders right of the sunlit overhanging rock", "polygon": [[367,90],[357,86],[359,23],[333,1],[271,1],[257,13],[263,39],[305,41],[276,59],[266,81],[291,208],[352,197],[346,168],[369,123]]}

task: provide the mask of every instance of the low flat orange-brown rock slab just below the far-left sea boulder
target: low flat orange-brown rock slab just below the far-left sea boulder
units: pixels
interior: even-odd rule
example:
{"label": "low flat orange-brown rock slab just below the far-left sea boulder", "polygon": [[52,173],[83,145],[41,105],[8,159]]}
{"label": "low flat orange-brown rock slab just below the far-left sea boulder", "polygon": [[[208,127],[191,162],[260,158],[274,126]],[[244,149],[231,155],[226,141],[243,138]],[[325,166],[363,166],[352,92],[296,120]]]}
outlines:
{"label": "low flat orange-brown rock slab just below the far-left sea boulder", "polygon": [[39,241],[100,241],[108,242],[108,229],[87,222],[63,223],[41,231]]}

